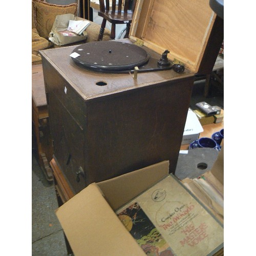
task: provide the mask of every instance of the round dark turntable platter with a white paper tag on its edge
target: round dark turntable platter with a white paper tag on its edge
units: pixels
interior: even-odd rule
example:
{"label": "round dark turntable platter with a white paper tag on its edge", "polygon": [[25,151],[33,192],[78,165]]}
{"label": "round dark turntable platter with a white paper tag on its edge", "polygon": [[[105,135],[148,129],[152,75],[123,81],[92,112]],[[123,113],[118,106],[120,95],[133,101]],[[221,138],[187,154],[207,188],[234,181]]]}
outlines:
{"label": "round dark turntable platter with a white paper tag on its edge", "polygon": [[105,73],[129,73],[170,69],[158,67],[157,59],[145,49],[123,41],[96,41],[76,47],[70,55],[75,63],[86,69]]}

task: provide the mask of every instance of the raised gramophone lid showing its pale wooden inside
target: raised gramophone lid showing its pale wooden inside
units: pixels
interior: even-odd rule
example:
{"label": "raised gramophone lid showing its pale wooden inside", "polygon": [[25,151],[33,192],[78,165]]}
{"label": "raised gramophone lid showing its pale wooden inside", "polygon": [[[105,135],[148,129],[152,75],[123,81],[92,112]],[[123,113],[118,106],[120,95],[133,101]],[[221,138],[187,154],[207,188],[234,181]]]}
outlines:
{"label": "raised gramophone lid showing its pale wooden inside", "polygon": [[[211,48],[208,42],[215,19],[207,0],[137,0],[130,39],[142,40],[145,47],[159,54],[168,50],[170,60],[198,73],[206,48]],[[214,62],[218,52],[215,55]]]}

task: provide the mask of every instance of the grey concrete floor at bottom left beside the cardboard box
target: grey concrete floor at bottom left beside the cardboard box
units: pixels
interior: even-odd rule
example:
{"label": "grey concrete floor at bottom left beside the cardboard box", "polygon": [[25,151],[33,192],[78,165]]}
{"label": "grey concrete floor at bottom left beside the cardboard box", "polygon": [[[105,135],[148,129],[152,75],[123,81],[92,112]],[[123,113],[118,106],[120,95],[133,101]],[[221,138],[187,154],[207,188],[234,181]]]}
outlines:
{"label": "grey concrete floor at bottom left beside the cardboard box", "polygon": [[32,255],[68,255],[53,183],[50,184],[32,152]]}

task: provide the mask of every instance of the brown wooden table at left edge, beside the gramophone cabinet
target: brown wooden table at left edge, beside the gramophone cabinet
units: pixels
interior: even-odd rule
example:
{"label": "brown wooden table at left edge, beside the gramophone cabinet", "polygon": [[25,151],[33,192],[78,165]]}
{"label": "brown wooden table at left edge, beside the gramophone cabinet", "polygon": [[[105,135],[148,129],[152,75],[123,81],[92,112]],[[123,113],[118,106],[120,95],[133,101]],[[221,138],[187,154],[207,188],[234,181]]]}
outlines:
{"label": "brown wooden table at left edge, beside the gramophone cabinet", "polygon": [[32,65],[32,123],[36,137],[39,164],[44,170],[46,179],[53,181],[52,170],[49,166],[49,161],[53,155],[53,147],[42,65]]}

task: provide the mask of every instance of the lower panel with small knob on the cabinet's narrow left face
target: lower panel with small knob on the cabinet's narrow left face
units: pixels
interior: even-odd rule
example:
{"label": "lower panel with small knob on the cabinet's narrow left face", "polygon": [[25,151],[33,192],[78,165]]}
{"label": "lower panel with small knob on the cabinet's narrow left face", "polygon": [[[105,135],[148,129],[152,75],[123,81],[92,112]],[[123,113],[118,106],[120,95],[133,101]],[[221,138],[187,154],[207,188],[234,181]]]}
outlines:
{"label": "lower panel with small knob on the cabinet's narrow left face", "polygon": [[48,100],[54,156],[76,194],[87,185],[83,129],[54,93],[49,93]]}

